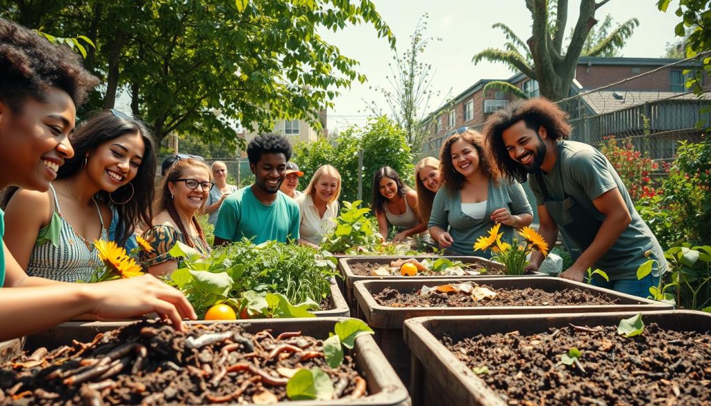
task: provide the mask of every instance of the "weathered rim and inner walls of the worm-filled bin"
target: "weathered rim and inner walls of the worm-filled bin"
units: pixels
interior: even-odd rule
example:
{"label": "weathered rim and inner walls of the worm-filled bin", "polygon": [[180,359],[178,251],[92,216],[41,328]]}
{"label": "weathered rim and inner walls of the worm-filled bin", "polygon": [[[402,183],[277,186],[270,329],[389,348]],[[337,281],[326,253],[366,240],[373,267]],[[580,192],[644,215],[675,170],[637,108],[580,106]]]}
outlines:
{"label": "weathered rim and inner walls of the worm-filled bin", "polygon": [[[313,336],[325,340],[328,333],[333,332],[336,322],[346,318],[327,317],[321,319],[255,319],[255,320],[235,320],[235,321],[188,321],[188,324],[240,324],[249,333],[256,333],[265,328],[271,328],[272,334],[277,335],[285,331],[301,331],[304,336]],[[28,351],[43,346],[48,349],[58,348],[65,344],[72,343],[72,340],[88,342],[92,341],[97,333],[112,330],[121,326],[132,324],[130,321],[117,322],[70,322],[60,324],[42,333],[34,334],[26,338],[25,348]],[[348,350],[346,350],[348,351]],[[375,344],[373,336],[364,334],[355,339],[355,347],[348,353],[355,359],[355,364],[363,378],[368,384],[368,395],[357,400],[328,400],[328,401],[299,401],[299,402],[279,402],[277,405],[299,405],[299,406],[326,406],[326,405],[360,405],[395,406],[411,405],[410,396],[405,385],[397,378],[395,370],[392,370],[383,352]]]}

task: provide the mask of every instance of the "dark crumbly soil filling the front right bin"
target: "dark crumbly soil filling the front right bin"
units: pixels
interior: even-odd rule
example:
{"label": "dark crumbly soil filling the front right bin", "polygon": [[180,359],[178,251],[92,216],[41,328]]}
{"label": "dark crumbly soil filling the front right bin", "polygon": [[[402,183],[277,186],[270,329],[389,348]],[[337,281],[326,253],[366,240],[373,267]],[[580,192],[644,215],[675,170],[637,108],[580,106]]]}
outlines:
{"label": "dark crumbly soil filling the front right bin", "polygon": [[[570,326],[533,336],[476,336],[444,345],[509,405],[709,405],[711,336],[645,326]],[[582,368],[560,364],[578,348]],[[486,368],[483,368],[486,367]],[[488,372],[481,370],[488,369]]]}

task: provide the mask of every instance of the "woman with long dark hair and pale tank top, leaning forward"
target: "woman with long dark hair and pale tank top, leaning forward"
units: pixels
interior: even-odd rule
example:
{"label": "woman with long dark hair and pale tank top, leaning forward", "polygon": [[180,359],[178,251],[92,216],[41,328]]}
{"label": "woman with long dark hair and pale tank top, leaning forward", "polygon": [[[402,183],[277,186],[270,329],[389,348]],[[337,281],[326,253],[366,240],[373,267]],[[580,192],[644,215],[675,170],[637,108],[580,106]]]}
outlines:
{"label": "woman with long dark hair and pale tank top, leaning forward", "polygon": [[388,237],[388,225],[397,228],[393,242],[405,241],[411,235],[427,234],[427,225],[422,222],[417,208],[417,193],[406,188],[400,175],[390,166],[375,171],[372,206],[383,241]]}

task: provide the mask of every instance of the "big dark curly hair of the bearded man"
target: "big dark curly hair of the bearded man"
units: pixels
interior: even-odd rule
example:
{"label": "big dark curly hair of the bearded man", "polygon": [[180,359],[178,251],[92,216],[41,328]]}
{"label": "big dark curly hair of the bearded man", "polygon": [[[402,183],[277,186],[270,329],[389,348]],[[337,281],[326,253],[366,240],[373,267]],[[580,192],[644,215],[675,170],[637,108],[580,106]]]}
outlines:
{"label": "big dark curly hair of the bearded man", "polygon": [[488,149],[491,151],[496,167],[503,176],[510,180],[523,182],[528,172],[518,162],[508,156],[506,145],[503,144],[503,132],[513,124],[523,120],[526,127],[538,133],[541,126],[547,130],[550,139],[566,139],[572,132],[567,122],[568,114],[554,102],[542,97],[529,100],[519,100],[491,114],[486,120],[483,132],[486,134]]}

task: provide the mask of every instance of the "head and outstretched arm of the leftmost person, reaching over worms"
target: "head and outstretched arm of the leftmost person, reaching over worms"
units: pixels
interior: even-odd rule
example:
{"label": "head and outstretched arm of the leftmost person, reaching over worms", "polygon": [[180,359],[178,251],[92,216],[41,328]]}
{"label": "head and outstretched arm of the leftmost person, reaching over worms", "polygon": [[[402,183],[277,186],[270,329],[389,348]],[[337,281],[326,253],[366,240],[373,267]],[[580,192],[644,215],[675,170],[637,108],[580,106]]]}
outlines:
{"label": "head and outstretched arm of the leftmost person, reaching over worms", "polygon": [[[0,189],[47,191],[66,159],[76,107],[97,78],[66,46],[0,18]],[[151,275],[97,284],[28,277],[7,249],[0,210],[0,341],[77,317],[128,319],[156,312],[184,330],[195,311],[178,290]]]}

